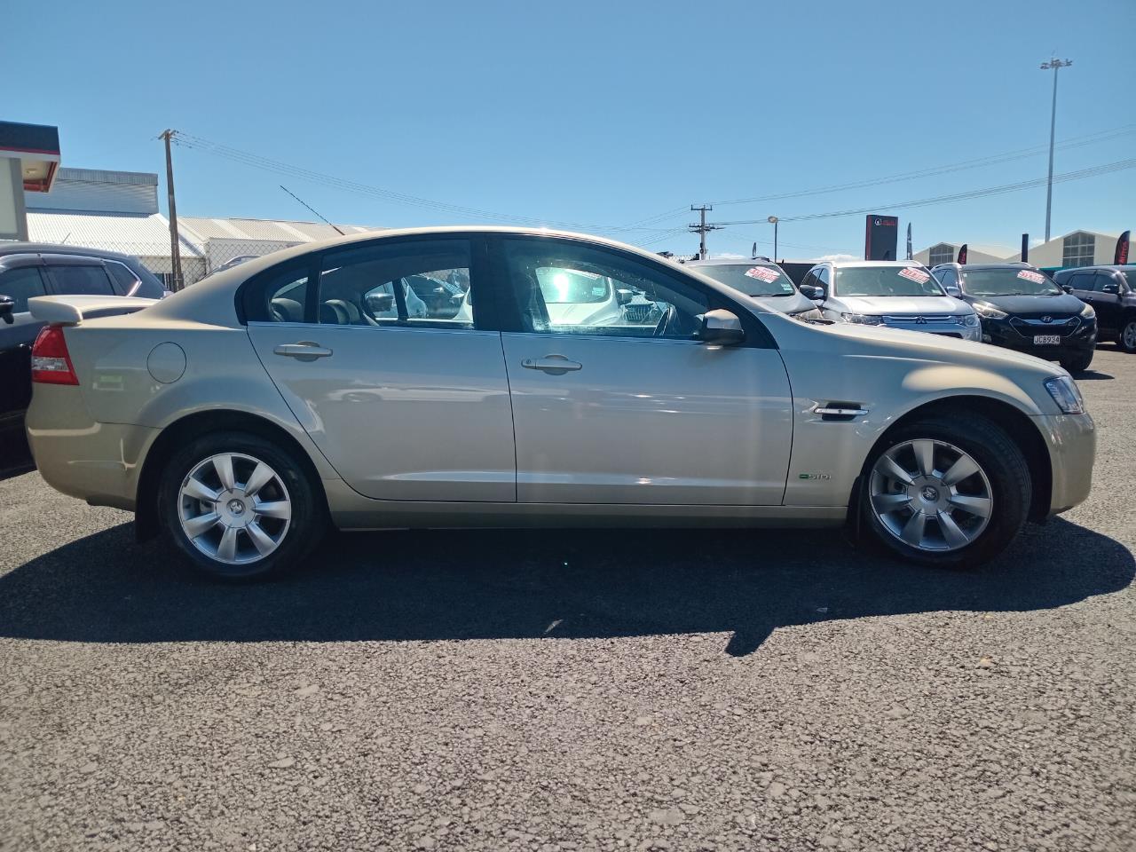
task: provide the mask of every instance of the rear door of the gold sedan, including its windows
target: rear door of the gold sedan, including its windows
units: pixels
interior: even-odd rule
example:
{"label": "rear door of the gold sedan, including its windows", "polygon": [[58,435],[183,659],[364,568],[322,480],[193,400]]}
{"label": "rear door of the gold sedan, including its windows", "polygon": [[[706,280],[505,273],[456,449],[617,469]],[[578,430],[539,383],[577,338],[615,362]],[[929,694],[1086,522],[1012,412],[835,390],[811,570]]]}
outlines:
{"label": "rear door of the gold sedan, including its windows", "polygon": [[[469,240],[450,236],[377,240],[245,284],[257,354],[316,445],[365,496],[516,500],[501,336],[482,327],[473,252]],[[432,315],[407,283],[451,273],[471,278],[473,311],[462,318],[449,308],[449,317]]]}

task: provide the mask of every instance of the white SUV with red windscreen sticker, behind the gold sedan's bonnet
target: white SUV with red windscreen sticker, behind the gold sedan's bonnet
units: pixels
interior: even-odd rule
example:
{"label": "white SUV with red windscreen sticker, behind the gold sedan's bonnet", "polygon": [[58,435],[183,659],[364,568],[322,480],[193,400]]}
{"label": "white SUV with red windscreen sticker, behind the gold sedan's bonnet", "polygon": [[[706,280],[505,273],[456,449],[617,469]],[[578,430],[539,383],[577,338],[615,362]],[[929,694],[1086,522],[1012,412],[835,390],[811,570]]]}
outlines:
{"label": "white SUV with red windscreen sticker, behind the gold sedan's bonnet", "polygon": [[974,308],[947,295],[922,264],[851,260],[817,264],[801,282],[817,293],[826,319],[980,341]]}

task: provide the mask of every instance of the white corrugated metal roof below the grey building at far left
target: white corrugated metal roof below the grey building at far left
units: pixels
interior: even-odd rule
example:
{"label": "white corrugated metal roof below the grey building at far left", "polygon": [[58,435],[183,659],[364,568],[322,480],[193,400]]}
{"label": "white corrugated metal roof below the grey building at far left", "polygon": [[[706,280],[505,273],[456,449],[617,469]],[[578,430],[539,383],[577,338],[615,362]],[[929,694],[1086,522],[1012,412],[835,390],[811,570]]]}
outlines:
{"label": "white corrugated metal roof below the grey building at far left", "polygon": [[[159,214],[27,212],[33,242],[87,245],[126,254],[169,257],[169,223]],[[199,247],[182,235],[182,253],[200,257]]]}

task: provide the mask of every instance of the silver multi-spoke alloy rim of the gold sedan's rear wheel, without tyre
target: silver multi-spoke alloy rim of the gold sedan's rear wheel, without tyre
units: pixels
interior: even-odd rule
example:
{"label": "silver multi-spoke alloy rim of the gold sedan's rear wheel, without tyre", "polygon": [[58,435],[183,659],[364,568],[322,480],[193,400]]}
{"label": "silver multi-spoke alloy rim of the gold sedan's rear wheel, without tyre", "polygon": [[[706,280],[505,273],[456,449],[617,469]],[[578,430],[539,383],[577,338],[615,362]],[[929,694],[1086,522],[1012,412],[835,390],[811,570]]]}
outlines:
{"label": "silver multi-spoke alloy rim of the gold sedan's rear wheel, without tyre", "polygon": [[269,465],[223,452],[199,462],[177,492],[177,517],[193,546],[226,565],[272,556],[287,535],[292,500]]}

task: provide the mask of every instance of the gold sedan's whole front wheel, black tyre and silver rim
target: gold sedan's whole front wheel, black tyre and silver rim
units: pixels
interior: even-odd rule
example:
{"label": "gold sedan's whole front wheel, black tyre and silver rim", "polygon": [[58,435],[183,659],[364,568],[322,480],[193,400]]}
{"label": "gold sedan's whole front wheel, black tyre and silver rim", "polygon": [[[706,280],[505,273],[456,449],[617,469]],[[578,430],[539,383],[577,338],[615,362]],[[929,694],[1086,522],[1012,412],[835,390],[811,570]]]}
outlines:
{"label": "gold sedan's whole front wheel, black tyre and silver rim", "polygon": [[969,568],[1001,553],[1029,511],[1029,467],[1018,445],[977,415],[901,426],[863,469],[864,525],[920,565]]}

